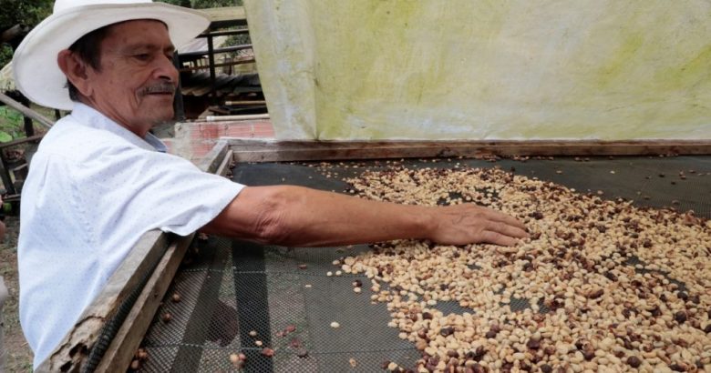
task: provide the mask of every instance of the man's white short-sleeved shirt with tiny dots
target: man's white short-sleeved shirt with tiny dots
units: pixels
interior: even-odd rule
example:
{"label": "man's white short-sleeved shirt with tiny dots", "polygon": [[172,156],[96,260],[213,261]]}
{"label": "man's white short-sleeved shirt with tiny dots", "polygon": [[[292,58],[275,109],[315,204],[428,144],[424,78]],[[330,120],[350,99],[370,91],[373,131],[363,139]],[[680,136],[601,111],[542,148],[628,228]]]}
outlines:
{"label": "man's white short-sleeved shirt with tiny dots", "polygon": [[242,185],[157,151],[81,104],[46,134],[22,190],[20,322],[38,367],[151,229],[187,236]]}

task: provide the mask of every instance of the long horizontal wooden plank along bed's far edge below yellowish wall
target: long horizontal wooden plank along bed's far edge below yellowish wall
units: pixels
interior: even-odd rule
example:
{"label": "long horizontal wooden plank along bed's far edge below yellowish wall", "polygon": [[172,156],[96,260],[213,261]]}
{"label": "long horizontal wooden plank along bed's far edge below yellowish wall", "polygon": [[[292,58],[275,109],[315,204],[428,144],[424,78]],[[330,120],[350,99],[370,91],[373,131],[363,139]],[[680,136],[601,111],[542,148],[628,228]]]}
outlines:
{"label": "long horizontal wooden plank along bed's far edge below yellowish wall", "polygon": [[711,140],[275,141],[227,139],[238,162],[432,156],[708,155]]}

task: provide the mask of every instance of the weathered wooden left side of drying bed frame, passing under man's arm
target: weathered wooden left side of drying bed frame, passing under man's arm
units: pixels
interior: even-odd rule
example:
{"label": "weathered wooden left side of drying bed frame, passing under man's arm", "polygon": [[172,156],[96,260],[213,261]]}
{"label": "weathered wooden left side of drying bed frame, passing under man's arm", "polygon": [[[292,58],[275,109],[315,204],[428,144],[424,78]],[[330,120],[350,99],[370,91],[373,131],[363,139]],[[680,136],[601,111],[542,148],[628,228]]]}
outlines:
{"label": "weathered wooden left side of drying bed frame, passing under man's arm", "polygon": [[[199,165],[203,171],[224,176],[232,161],[232,152],[226,143],[222,143],[204,159]],[[82,313],[75,327],[36,371],[80,371],[102,328],[118,313],[122,301],[139,286],[141,279],[149,277],[97,368],[98,371],[126,371],[192,237],[175,237],[158,230],[144,234],[109,277],[99,296]]]}

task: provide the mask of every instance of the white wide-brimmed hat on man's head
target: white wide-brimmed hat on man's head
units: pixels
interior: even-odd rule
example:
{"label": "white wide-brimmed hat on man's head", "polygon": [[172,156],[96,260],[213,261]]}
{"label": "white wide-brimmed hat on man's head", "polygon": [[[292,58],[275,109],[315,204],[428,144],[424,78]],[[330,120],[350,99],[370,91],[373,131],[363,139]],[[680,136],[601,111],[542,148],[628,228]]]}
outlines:
{"label": "white wide-brimmed hat on man's head", "polygon": [[57,0],[54,13],[36,25],[15,51],[15,86],[36,104],[71,109],[67,77],[57,65],[57,54],[93,30],[133,19],[156,19],[168,25],[176,48],[210,25],[200,11],[151,0]]}

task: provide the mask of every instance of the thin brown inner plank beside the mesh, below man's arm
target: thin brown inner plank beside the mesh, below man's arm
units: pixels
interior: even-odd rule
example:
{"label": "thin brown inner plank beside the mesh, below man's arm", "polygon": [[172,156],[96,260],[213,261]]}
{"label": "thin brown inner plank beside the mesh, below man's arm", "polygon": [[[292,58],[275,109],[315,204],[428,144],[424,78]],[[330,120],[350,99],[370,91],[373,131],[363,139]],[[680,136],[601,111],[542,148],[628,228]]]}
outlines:
{"label": "thin brown inner plank beside the mesh, below man's arm", "polygon": [[[170,282],[175,277],[193,236],[194,233],[187,237],[179,237],[170,244],[146,287],[143,288],[136,300],[136,304],[131,308],[129,316],[124,320],[108,346],[96,371],[126,371],[126,368],[129,368],[131,359],[139,348],[140,342],[150,326],[150,321],[160,306],[160,300],[170,287]],[[117,367],[124,368],[115,369]]]}

